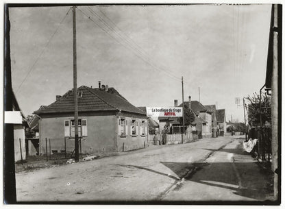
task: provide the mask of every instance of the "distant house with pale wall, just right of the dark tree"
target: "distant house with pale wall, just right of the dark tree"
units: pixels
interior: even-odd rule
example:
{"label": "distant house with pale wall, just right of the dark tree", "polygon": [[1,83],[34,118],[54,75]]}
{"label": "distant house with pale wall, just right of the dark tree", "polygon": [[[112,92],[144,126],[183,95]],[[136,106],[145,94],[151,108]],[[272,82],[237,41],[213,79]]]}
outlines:
{"label": "distant house with pale wall, just right of the dark tree", "polygon": [[[202,136],[203,137],[211,137],[212,136],[212,111],[208,110],[205,106],[203,106],[199,101],[191,101],[191,97],[188,97],[188,101],[184,101],[184,104],[195,112],[195,115],[199,118],[195,121],[202,123]],[[182,104],[179,105],[182,107]],[[198,129],[199,129],[198,127]]]}

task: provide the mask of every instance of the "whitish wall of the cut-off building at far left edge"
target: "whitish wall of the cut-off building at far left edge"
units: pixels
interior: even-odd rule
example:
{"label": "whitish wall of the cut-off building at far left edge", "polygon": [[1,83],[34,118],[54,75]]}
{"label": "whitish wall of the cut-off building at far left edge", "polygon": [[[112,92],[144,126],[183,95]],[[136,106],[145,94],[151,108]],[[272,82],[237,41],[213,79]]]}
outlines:
{"label": "whitish wall of the cut-off building at far left edge", "polygon": [[21,149],[20,149],[20,140],[21,138],[21,149],[22,149],[22,158],[26,159],[26,149],[25,149],[25,130],[23,125],[14,125],[14,158],[15,162],[21,160]]}

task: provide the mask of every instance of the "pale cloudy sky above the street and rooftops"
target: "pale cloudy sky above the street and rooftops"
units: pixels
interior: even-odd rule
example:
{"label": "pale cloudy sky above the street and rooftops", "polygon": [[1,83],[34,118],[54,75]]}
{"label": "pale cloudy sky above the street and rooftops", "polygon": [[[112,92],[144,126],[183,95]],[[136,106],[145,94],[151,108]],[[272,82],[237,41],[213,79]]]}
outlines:
{"label": "pale cloudy sky above the street and rooftops", "polygon": [[[68,12],[68,13],[67,13]],[[271,5],[79,6],[77,86],[116,88],[134,106],[188,96],[244,121],[235,98],[265,82]],[[69,7],[10,8],[12,88],[25,115],[73,88]],[[241,103],[242,104],[242,103]]]}

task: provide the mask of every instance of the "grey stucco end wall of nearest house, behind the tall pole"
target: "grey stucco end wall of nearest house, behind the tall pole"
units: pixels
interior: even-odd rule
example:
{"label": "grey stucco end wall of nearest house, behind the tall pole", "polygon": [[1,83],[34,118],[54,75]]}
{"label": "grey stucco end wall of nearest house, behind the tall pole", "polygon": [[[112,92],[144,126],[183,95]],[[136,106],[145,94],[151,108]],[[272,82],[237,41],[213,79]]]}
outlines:
{"label": "grey stucco end wall of nearest house, behind the tall pole", "polygon": [[[40,153],[46,152],[45,138],[49,153],[49,138],[51,151],[64,151],[64,121],[72,116],[46,117],[40,120]],[[82,153],[98,153],[116,151],[116,116],[115,115],[79,115],[79,119],[87,120],[88,136],[82,139]],[[66,151],[73,151],[75,140],[66,138]]]}

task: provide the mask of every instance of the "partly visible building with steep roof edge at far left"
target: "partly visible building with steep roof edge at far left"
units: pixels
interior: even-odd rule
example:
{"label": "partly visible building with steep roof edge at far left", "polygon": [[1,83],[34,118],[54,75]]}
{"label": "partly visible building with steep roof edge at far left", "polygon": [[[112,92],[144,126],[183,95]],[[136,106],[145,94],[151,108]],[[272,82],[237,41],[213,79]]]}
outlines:
{"label": "partly visible building with steep roof edge at far left", "polygon": [[13,111],[20,111],[22,123],[15,124],[14,123],[14,158],[15,162],[18,160],[26,159],[26,145],[25,145],[25,129],[29,127],[27,123],[27,119],[20,106],[18,105],[18,101],[14,92],[12,92],[12,106]]}

